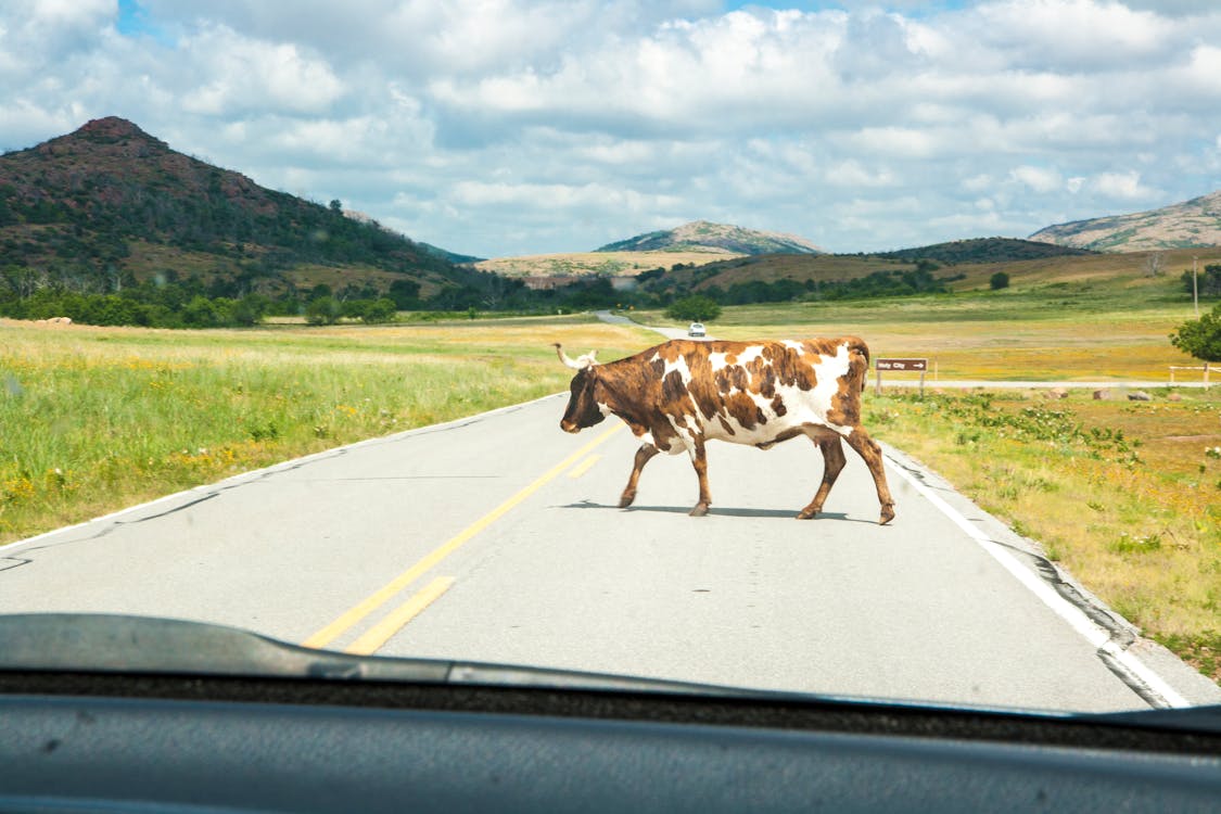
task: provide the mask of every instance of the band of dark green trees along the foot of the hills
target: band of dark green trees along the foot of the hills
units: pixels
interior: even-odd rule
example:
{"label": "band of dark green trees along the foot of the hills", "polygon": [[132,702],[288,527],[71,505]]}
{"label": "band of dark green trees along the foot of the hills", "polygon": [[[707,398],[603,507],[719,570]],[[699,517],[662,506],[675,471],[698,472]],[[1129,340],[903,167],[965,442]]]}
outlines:
{"label": "band of dark green trees along the foot of the hills", "polygon": [[[750,281],[726,288],[705,287],[698,293],[718,305],[818,301],[946,293],[952,278],[934,277],[928,268],[879,271],[851,281]],[[308,289],[287,286],[277,294],[260,292],[247,275],[198,275],[179,278],[172,271],[137,281],[114,267],[85,279],[9,265],[0,268],[0,316],[24,320],[71,317],[88,325],[148,327],[225,327],[258,325],[267,316],[304,316],[310,323],[358,319],[392,321],[399,311],[512,311],[523,314],[573,312],[602,308],[668,308],[690,297],[698,277],[676,281],[645,272],[634,290],[617,289],[609,277],[589,277],[552,289],[531,289],[523,279],[502,277],[473,267],[459,267],[451,281],[430,295],[403,277],[386,288],[352,283],[339,289],[320,284]]]}

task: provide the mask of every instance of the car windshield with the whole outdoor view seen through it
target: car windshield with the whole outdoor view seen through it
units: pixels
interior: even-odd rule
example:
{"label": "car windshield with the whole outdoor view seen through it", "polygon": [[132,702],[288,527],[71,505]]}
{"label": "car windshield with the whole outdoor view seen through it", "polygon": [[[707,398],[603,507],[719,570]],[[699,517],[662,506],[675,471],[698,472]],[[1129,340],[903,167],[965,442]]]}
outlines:
{"label": "car windshield with the whole outdoor view seen through it", "polygon": [[0,670],[1221,703],[1219,43],[5,4]]}

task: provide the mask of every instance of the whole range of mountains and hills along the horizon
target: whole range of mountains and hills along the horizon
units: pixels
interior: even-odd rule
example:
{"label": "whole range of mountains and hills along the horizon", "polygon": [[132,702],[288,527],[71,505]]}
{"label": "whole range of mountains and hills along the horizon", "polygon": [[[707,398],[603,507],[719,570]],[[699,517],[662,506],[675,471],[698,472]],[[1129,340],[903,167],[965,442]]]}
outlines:
{"label": "whole range of mountains and hills along the horizon", "polygon": [[[954,265],[1221,245],[1221,192],[1149,212],[1051,226],[1031,238],[956,240],[873,256]],[[824,254],[801,237],[694,221],[580,256],[547,255],[532,265],[502,259],[477,268],[485,276],[634,276],[731,261],[735,273],[748,275],[762,273],[753,264],[761,255],[806,262]],[[474,260],[413,242],[343,211],[338,201],[321,205],[261,187],[117,117],[0,155],[0,273],[32,270],[42,276],[38,284],[110,292],[125,281],[177,275],[227,292],[282,294],[326,283],[336,293],[348,286],[379,292],[418,286],[421,297],[432,297],[482,284]]]}

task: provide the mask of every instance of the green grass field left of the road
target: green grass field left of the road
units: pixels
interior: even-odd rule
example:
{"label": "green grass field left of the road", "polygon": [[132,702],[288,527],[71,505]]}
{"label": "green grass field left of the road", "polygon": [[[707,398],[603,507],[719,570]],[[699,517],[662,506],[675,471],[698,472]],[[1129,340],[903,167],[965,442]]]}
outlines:
{"label": "green grass field left of the road", "polygon": [[252,331],[0,326],[0,543],[567,387],[592,317]]}

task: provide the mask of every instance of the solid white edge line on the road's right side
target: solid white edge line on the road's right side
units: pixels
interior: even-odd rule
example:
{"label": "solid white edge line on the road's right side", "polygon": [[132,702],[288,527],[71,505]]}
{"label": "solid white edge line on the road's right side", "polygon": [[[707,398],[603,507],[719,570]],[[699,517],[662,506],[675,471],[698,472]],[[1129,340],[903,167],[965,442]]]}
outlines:
{"label": "solid white edge line on the road's right side", "polygon": [[1140,659],[1136,655],[1118,647],[1114,641],[1111,641],[1111,635],[1109,632],[1106,632],[1101,626],[1094,624],[1089,616],[1082,613],[1079,608],[1061,597],[1051,586],[1023,566],[1013,558],[1012,554],[1006,552],[1002,546],[998,546],[993,542],[987,535],[979,531],[979,528],[973,526],[969,520],[963,517],[954,506],[906,472],[902,466],[896,466],[894,463],[890,464],[890,470],[893,472],[896,472],[900,477],[907,481],[907,483],[919,492],[929,503],[937,506],[941,514],[954,521],[954,524],[962,531],[967,532],[967,536],[976,541],[980,548],[991,554],[993,559],[995,559],[1001,567],[1009,571],[1010,575],[1034,593],[1034,596],[1038,597],[1043,604],[1050,608],[1057,616],[1068,622],[1070,627],[1085,637],[1087,642],[1095,648],[1106,652],[1116,661],[1120,661],[1127,670],[1131,670],[1138,679],[1144,681],[1150,690],[1160,694],[1171,707],[1192,705],[1190,702],[1171,687],[1165,679],[1158,675],[1147,664],[1140,661]]}

